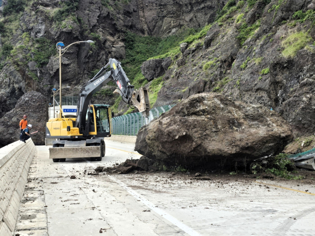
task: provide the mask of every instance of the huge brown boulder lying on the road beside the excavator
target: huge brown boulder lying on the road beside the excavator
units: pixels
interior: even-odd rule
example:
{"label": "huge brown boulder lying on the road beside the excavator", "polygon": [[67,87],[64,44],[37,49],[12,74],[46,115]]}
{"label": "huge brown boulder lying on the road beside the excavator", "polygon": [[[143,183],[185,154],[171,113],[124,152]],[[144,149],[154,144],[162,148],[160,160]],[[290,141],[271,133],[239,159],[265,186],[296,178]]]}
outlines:
{"label": "huge brown boulder lying on the road beside the excavator", "polygon": [[274,111],[201,93],[144,126],[135,150],[169,164],[244,165],[281,152],[292,138],[288,123]]}

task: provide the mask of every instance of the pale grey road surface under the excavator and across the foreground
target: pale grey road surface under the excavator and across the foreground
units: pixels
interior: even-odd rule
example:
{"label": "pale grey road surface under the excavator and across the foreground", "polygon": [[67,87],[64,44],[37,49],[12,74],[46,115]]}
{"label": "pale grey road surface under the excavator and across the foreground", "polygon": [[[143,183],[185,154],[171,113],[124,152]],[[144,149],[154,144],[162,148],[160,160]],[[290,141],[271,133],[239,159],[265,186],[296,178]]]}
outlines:
{"label": "pale grey road surface under the excavator and across the foreground", "polygon": [[[105,143],[101,162],[67,159],[53,163],[48,147],[36,147],[15,234],[314,235],[313,185],[220,176],[196,180],[165,172],[87,175],[97,166],[141,156],[133,145]],[[76,178],[70,179],[73,175]]]}

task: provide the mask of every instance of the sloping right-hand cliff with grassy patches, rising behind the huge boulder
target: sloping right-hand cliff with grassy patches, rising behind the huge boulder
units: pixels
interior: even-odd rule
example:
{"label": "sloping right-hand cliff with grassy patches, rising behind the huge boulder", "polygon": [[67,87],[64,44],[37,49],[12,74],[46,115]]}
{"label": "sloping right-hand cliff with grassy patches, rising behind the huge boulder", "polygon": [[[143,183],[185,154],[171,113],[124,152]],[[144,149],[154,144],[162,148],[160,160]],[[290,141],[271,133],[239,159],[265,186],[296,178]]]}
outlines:
{"label": "sloping right-hand cliff with grassy patches, rising behind the huge boulder", "polygon": [[204,36],[181,44],[155,105],[220,92],[275,110],[296,135],[314,134],[314,25],[311,0],[230,0]]}

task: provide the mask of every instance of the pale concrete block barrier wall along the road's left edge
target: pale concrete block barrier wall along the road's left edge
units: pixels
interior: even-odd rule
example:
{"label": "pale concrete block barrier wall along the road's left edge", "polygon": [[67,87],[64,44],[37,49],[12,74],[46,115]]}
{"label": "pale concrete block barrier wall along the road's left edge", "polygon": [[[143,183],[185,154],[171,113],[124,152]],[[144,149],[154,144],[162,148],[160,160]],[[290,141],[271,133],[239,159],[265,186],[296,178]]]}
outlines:
{"label": "pale concrete block barrier wall along the road's left edge", "polygon": [[35,145],[32,139],[0,148],[0,236],[12,236]]}

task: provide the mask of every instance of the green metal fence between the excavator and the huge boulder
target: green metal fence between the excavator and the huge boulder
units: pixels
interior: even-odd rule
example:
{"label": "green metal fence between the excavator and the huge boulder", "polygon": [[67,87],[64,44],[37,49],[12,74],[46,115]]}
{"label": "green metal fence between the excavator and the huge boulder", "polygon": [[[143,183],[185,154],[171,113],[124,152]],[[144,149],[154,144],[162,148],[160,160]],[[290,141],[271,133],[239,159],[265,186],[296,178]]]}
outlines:
{"label": "green metal fence between the excavator and the huge boulder", "polygon": [[[158,118],[161,114],[169,111],[175,105],[155,107],[150,111],[149,123]],[[112,134],[136,136],[142,126],[145,125],[145,118],[142,113],[130,113],[127,115],[112,118]]]}

